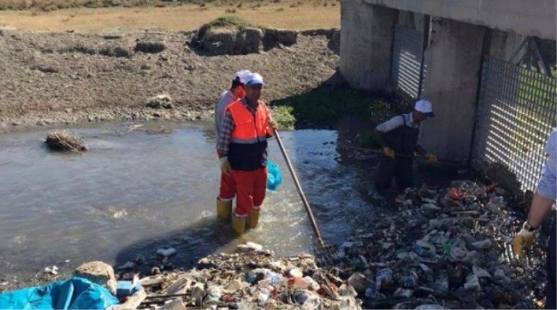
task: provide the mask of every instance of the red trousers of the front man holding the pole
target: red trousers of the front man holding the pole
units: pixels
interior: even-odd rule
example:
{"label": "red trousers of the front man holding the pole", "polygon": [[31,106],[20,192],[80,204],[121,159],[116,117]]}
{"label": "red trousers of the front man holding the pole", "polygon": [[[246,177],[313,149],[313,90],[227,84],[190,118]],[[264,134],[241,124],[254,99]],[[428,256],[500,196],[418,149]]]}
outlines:
{"label": "red trousers of the front man holding the pole", "polygon": [[234,215],[246,217],[251,210],[259,210],[265,199],[267,168],[253,171],[233,170],[230,174],[236,183],[237,196]]}

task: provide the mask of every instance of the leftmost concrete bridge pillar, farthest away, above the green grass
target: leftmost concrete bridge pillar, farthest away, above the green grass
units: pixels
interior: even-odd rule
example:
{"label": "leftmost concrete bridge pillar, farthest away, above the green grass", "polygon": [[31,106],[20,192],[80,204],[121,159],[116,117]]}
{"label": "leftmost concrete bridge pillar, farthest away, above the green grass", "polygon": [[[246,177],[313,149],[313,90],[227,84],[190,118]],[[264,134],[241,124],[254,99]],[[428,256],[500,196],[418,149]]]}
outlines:
{"label": "leftmost concrete bridge pillar, farthest away, above the green grass", "polygon": [[352,88],[378,91],[391,78],[391,45],[397,11],[343,0],[340,73]]}

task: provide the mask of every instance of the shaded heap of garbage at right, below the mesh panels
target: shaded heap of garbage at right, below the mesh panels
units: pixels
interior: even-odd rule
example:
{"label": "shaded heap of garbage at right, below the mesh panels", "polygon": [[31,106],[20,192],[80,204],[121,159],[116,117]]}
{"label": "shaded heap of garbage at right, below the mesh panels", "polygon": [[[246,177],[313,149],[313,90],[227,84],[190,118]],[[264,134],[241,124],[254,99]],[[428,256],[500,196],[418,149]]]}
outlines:
{"label": "shaded heap of garbage at right, below the mesh panels", "polygon": [[[338,270],[373,309],[532,309],[544,296],[544,256],[512,254],[520,221],[503,189],[471,181],[407,189],[398,210],[366,220],[334,255]],[[538,297],[538,300],[536,299]]]}

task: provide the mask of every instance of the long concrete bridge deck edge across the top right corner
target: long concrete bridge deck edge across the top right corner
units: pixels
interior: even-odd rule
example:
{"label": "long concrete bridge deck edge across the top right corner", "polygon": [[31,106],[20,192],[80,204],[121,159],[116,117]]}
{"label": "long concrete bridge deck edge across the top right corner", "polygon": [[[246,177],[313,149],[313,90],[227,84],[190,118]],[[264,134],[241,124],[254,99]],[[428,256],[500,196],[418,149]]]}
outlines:
{"label": "long concrete bridge deck edge across the top right corner", "polygon": [[375,6],[408,10],[467,22],[523,36],[556,40],[555,0],[364,0]]}

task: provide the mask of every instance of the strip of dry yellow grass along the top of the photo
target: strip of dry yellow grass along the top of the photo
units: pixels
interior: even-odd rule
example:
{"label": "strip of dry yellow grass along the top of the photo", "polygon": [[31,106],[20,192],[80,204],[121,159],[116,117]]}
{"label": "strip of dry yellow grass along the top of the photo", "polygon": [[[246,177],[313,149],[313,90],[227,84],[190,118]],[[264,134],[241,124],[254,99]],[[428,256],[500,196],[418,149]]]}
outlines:
{"label": "strip of dry yellow grass along the top of the photo", "polygon": [[[89,0],[87,0],[89,1]],[[114,3],[116,0],[96,1]],[[34,31],[95,31],[102,29],[166,29],[188,31],[233,13],[252,24],[285,29],[328,29],[340,26],[338,0],[243,0],[199,1],[181,5],[159,6],[158,1],[121,0],[120,3],[154,3],[150,6],[114,6],[86,8],[86,0],[0,0],[0,7],[7,3],[40,3],[29,10],[2,10],[0,24]],[[78,8],[58,8],[62,6]],[[327,5],[325,5],[327,3]],[[133,3],[132,3],[133,4]],[[13,4],[11,6],[14,6]],[[64,6],[62,6],[64,7]]]}

